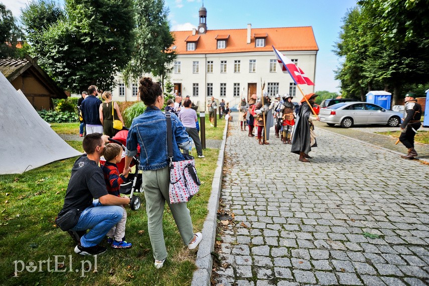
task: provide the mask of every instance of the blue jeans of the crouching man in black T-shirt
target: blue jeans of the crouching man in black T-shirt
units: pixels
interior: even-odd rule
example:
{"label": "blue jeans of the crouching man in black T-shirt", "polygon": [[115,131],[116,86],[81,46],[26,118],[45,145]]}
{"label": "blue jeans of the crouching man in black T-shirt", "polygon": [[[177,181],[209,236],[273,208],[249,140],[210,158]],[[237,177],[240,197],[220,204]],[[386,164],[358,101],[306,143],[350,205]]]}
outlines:
{"label": "blue jeans of the crouching man in black T-shirt", "polygon": [[79,221],[71,230],[90,231],[80,238],[83,247],[95,246],[101,242],[107,232],[122,218],[123,209],[120,206],[104,206],[98,200],[92,202],[80,214]]}

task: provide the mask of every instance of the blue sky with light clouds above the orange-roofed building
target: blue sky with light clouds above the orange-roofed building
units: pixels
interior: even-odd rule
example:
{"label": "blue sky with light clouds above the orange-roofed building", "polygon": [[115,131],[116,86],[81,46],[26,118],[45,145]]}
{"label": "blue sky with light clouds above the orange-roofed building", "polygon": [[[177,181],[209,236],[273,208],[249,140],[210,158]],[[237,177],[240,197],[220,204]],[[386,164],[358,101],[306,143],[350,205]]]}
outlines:
{"label": "blue sky with light clouds above the orange-roofed building", "polygon": [[[20,16],[28,0],[0,0]],[[63,3],[62,0],[58,1]],[[191,30],[198,26],[201,0],[165,0],[169,8],[172,30]],[[205,0],[208,29],[312,26],[319,46],[316,62],[316,90],[339,92],[339,81],[334,70],[340,59],[332,52],[347,11],[356,6],[356,0]],[[305,71],[304,71],[305,72]]]}

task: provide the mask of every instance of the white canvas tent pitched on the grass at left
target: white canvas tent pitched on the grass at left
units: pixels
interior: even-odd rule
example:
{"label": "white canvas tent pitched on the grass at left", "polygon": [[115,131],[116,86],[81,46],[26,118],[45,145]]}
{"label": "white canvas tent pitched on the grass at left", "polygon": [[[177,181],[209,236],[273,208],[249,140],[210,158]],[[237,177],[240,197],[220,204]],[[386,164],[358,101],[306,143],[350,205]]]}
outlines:
{"label": "white canvas tent pitched on the grass at left", "polygon": [[82,154],[52,130],[2,73],[0,102],[0,175],[22,174]]}

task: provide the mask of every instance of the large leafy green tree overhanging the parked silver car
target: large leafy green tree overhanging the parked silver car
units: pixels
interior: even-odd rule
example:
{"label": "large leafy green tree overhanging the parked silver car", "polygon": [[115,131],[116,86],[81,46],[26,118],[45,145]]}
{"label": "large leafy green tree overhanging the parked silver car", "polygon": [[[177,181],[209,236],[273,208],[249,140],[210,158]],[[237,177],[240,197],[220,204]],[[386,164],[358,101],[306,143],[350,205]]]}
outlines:
{"label": "large leafy green tree overhanging the parked silver car", "polygon": [[371,89],[393,91],[421,84],[429,73],[429,0],[361,0],[348,12],[337,55],[344,58],[336,78],[343,94]]}

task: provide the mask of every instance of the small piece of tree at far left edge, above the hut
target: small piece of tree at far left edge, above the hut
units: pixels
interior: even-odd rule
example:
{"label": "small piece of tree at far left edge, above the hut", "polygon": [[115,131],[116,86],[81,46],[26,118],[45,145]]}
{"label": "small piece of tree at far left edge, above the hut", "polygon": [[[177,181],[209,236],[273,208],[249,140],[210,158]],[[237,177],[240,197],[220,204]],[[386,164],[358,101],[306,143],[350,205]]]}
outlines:
{"label": "small piece of tree at far left edge, above the hut", "polygon": [[24,34],[17,25],[15,17],[6,6],[0,3],[0,58],[16,57],[19,55],[18,40],[23,40]]}

